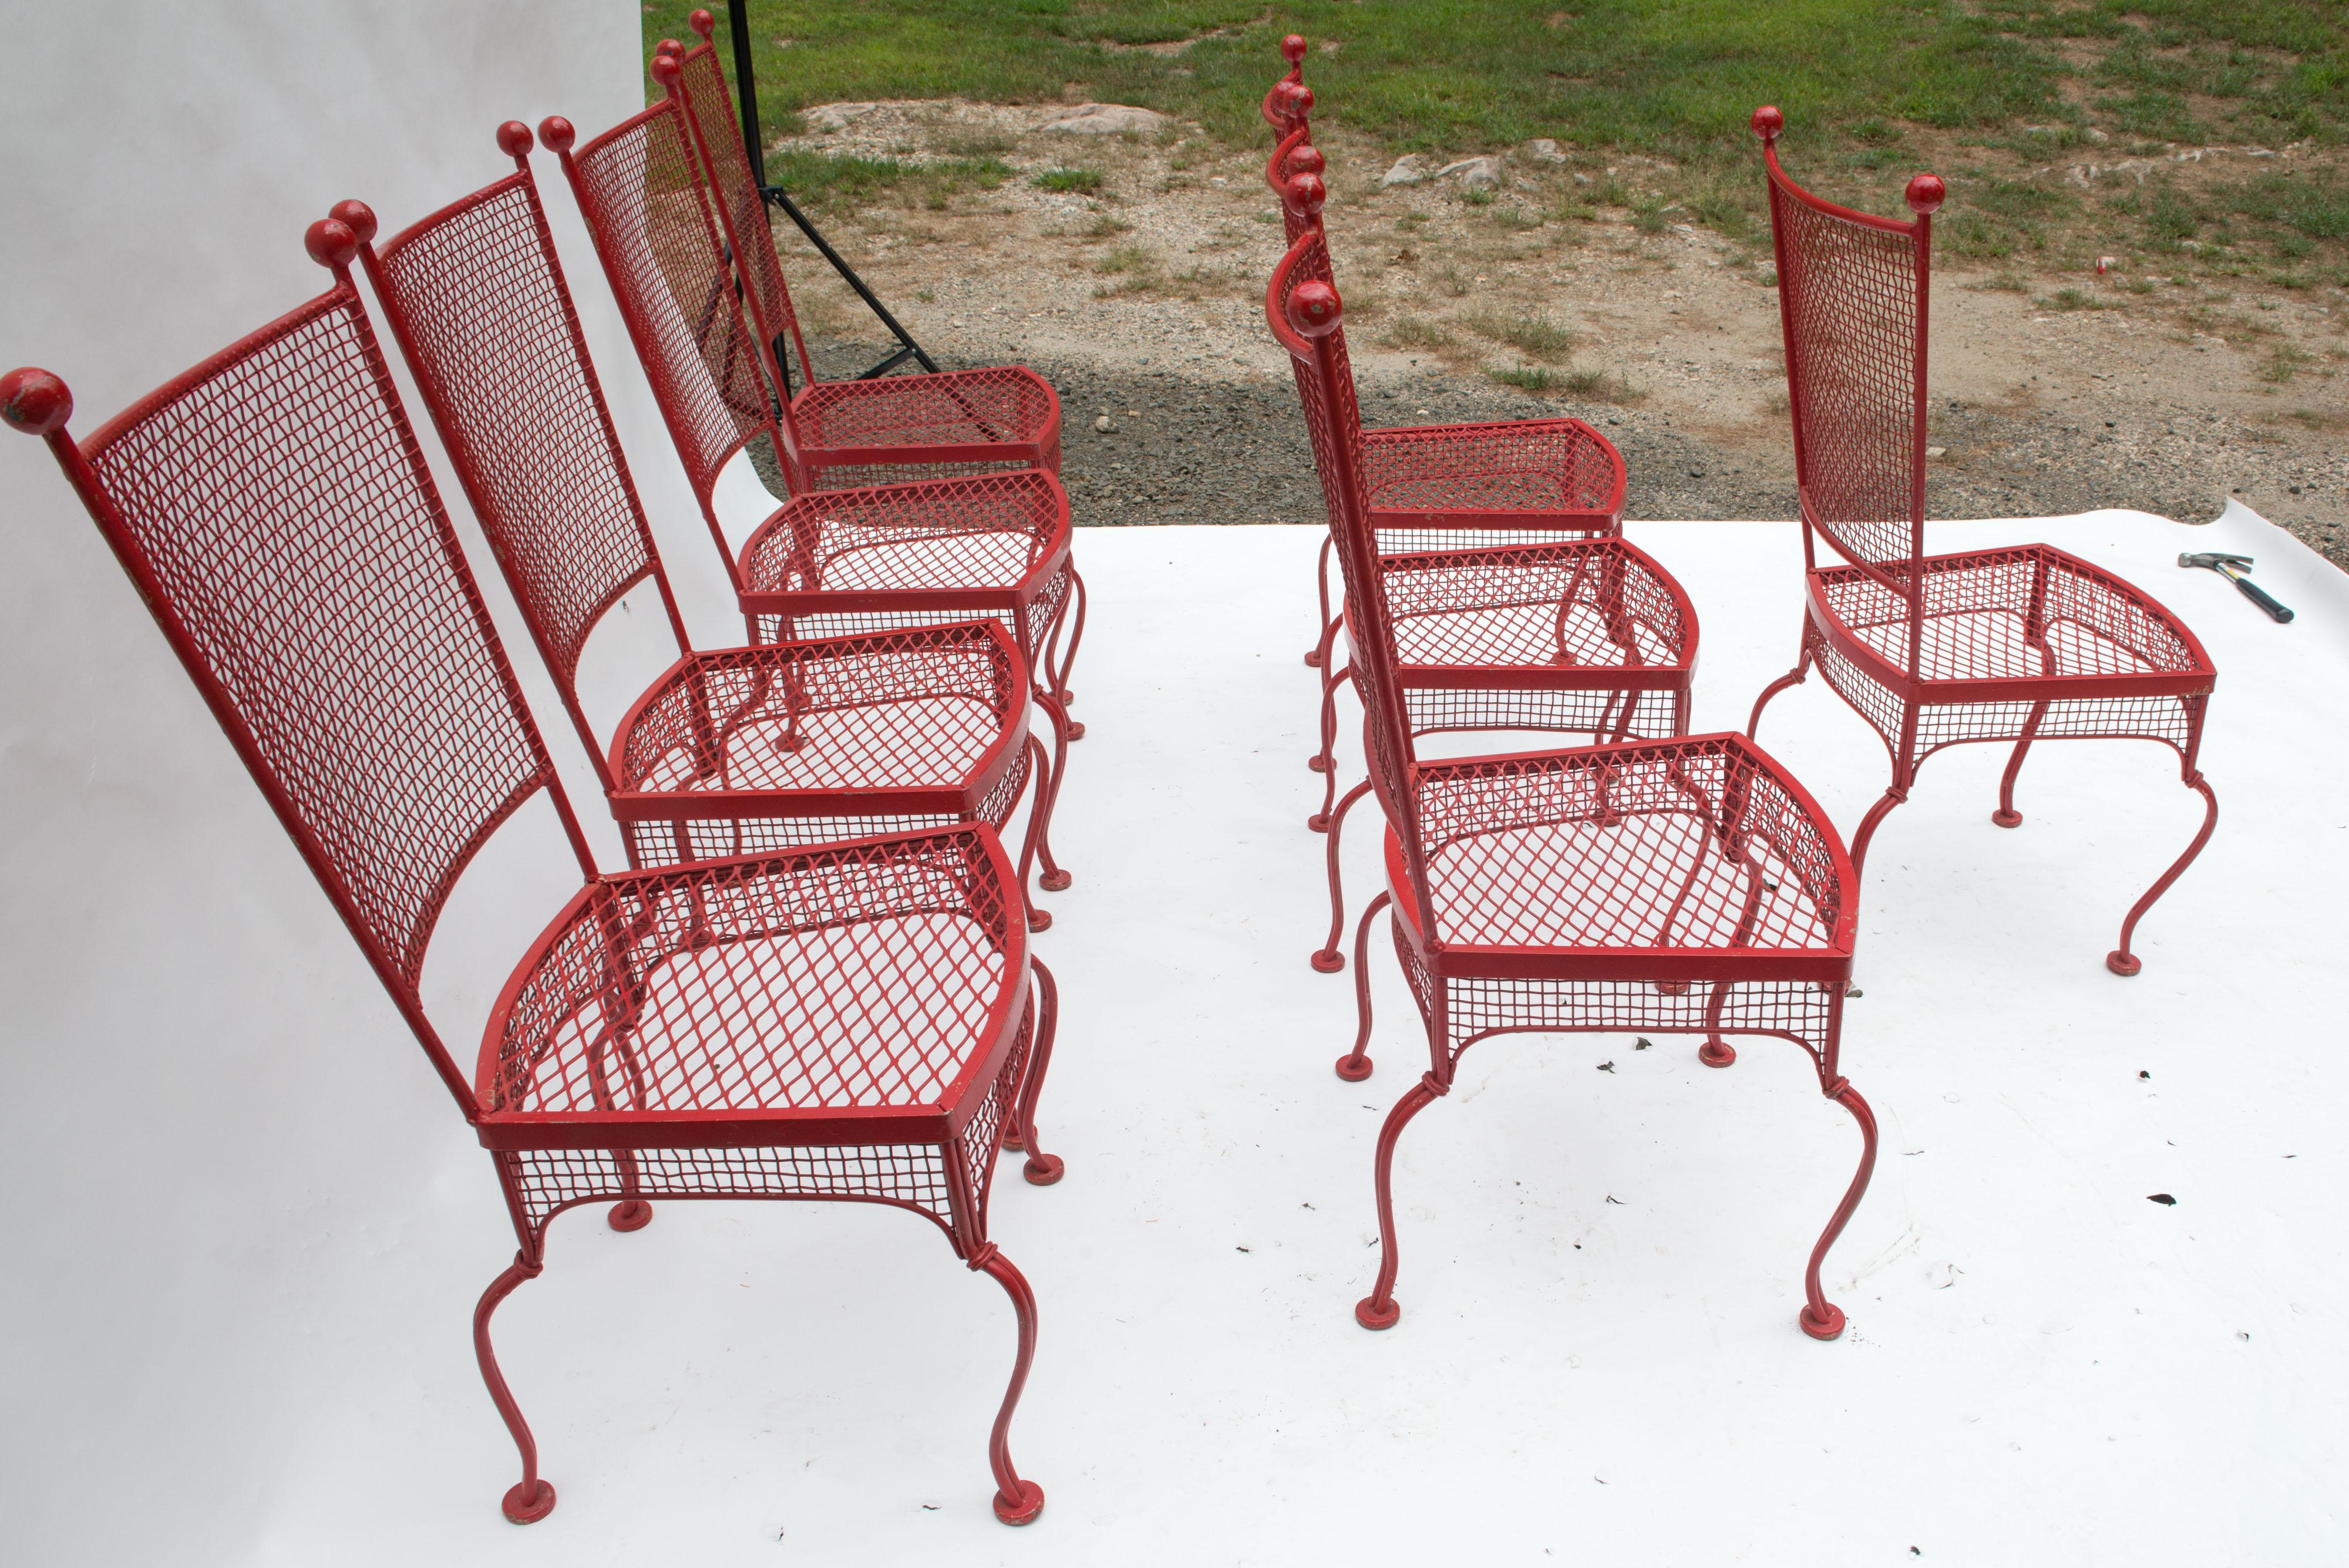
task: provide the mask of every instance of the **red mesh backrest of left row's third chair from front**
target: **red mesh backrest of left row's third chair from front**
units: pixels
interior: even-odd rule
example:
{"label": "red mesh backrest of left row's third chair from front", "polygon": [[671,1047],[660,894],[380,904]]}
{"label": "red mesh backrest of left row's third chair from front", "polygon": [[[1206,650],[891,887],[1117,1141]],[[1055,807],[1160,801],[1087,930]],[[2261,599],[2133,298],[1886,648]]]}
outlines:
{"label": "red mesh backrest of left row's third chair from front", "polygon": [[759,432],[799,486],[796,444],[778,430],[726,251],[702,204],[674,99],[564,157],[637,357],[707,505],[719,469]]}

